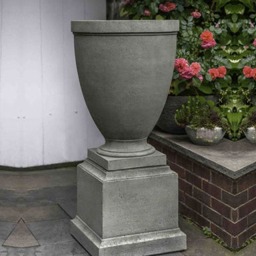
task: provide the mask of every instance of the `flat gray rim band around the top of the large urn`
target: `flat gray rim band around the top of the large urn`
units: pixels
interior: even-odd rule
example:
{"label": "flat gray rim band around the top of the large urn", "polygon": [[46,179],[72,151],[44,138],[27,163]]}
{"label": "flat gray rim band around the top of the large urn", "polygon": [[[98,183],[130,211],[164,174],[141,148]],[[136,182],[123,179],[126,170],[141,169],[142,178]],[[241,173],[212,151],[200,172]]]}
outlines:
{"label": "flat gray rim band around the top of the large urn", "polygon": [[137,21],[71,21],[73,33],[174,33],[179,31],[177,20]]}

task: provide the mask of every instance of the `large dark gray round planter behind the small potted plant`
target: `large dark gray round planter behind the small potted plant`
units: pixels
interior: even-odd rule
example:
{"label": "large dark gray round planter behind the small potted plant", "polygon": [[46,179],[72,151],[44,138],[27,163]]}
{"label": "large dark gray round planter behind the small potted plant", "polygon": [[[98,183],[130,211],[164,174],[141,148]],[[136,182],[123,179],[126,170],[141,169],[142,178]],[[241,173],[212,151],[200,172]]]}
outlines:
{"label": "large dark gray round planter behind the small potted plant", "polygon": [[[219,101],[219,97],[216,95],[204,97],[207,100],[213,101],[215,105]],[[168,96],[163,112],[157,121],[157,126],[167,133],[185,134],[185,129],[175,123],[175,113],[177,109],[180,109],[183,104],[187,103],[188,99],[188,96]]]}

